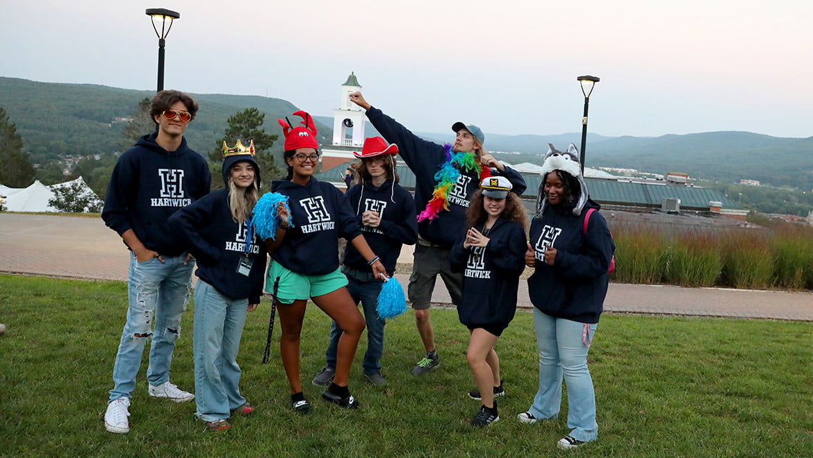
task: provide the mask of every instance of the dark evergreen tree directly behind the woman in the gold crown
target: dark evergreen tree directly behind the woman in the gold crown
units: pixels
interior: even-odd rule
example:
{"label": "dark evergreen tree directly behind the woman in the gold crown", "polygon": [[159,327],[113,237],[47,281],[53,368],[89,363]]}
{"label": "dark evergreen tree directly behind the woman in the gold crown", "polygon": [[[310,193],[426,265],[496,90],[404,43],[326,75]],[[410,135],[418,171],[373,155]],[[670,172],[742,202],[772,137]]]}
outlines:
{"label": "dark evergreen tree directly behind the woman in the gold crown", "polygon": [[217,177],[222,175],[224,141],[226,145],[234,146],[237,140],[241,140],[243,145],[248,146],[250,140],[254,140],[254,154],[256,154],[255,158],[263,179],[260,187],[261,193],[271,190],[272,179],[283,176],[280,168],[274,163],[274,156],[269,151],[278,136],[265,132],[262,127],[264,120],[265,113],[254,107],[246,108],[246,110],[242,110],[228,119],[225,136],[217,140],[215,149],[212,149],[209,153],[209,169],[211,170],[213,189],[223,188],[223,181],[217,179]]}

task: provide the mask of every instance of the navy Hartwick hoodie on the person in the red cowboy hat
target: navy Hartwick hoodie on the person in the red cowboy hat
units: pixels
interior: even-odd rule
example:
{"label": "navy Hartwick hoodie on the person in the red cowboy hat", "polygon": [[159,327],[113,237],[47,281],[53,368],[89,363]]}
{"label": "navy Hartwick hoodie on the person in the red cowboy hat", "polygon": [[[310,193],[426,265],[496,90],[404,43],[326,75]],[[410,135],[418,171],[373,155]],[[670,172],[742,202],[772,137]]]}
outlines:
{"label": "navy Hartwick hoodie on the person in the red cowboy hat", "polygon": [[[378,227],[362,226],[364,240],[372,248],[372,253],[380,257],[381,264],[388,274],[395,271],[395,264],[404,244],[414,245],[418,241],[418,223],[415,220],[415,201],[406,189],[388,179],[380,187],[372,184],[356,184],[347,192],[347,200],[355,210],[356,221],[361,224],[361,215],[367,210],[377,211],[381,222]],[[359,250],[347,244],[345,266],[372,274]]]}

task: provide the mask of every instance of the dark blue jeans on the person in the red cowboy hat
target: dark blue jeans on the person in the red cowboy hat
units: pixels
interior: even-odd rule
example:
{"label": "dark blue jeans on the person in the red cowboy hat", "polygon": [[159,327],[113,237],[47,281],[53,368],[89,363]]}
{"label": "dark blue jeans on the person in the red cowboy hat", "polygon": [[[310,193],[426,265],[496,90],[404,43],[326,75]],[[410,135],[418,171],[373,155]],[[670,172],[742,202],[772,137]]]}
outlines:
{"label": "dark blue jeans on the person in the red cowboy hat", "polygon": [[[346,271],[343,269],[342,271]],[[356,271],[358,272],[358,271]],[[364,374],[380,374],[381,372],[381,355],[384,353],[384,318],[378,318],[376,307],[378,306],[378,295],[381,292],[381,285],[384,283],[372,279],[370,274],[370,281],[361,281],[355,279],[352,273],[347,273],[347,292],[356,304],[361,305],[364,309],[364,320],[367,322],[367,352],[364,352],[364,361],[362,361],[362,369]],[[328,351],[325,354],[328,367],[336,369],[336,351],[339,345],[339,338],[341,337],[341,327],[334,321],[330,326],[330,340],[328,342]]]}

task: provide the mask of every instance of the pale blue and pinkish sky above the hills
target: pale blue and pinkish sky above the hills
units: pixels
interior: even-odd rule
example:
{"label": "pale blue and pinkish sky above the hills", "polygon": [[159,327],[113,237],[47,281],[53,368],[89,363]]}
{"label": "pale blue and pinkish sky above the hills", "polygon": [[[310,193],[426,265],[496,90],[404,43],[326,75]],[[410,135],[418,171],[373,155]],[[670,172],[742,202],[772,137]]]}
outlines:
{"label": "pale blue and pinkish sky above the hills", "polygon": [[354,72],[416,132],[813,136],[810,0],[3,0],[0,76],[156,87],[146,8],[180,12],[166,89],[333,116]]}

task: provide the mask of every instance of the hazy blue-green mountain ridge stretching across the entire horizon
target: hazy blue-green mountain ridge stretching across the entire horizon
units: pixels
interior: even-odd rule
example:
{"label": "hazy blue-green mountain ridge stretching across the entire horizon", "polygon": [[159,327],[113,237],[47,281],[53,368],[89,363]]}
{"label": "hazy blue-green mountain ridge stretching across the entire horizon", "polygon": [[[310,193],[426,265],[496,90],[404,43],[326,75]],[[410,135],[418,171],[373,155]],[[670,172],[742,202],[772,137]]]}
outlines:
{"label": "hazy blue-green mountain ridge stretching across the entire horizon", "polygon": [[[0,106],[6,111],[17,132],[23,136],[24,148],[34,162],[49,162],[68,156],[121,151],[126,147],[121,136],[123,123],[115,118],[133,114],[137,103],[152,97],[152,91],[118,89],[96,84],[40,83],[31,80],[0,77]],[[228,94],[193,94],[201,105],[198,117],[189,125],[189,145],[200,153],[215,147],[223,136],[226,119],[249,107],[266,113],[268,132],[281,134],[277,118],[291,116],[298,110],[290,102],[272,97]],[[307,107],[313,112],[315,107]],[[333,119],[315,116],[320,143],[333,140]],[[298,122],[298,119],[291,119]],[[409,127],[409,126],[407,126]],[[367,136],[377,135],[367,123]],[[540,162],[547,144],[558,149],[567,144],[580,146],[579,132],[507,136],[488,132],[489,151],[518,152],[506,156],[508,162]],[[437,143],[454,139],[451,132],[415,132]],[[281,136],[280,136],[281,137]],[[282,149],[281,138],[274,148]],[[609,137],[588,133],[588,166],[616,166],[641,171],[666,173],[680,171],[692,178],[735,183],[740,179],[758,179],[766,184],[813,189],[813,136],[783,138],[751,132],[702,132],[659,137]]]}

